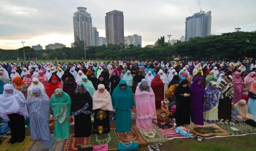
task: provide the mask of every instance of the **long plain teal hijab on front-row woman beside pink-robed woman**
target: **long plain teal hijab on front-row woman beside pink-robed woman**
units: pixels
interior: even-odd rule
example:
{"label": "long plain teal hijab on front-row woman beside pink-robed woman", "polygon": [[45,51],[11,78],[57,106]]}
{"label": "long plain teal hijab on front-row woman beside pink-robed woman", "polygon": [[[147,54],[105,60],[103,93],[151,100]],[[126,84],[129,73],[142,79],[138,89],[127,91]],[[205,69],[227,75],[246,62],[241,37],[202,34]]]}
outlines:
{"label": "long plain teal hijab on front-row woman beside pink-robed woman", "polygon": [[[126,88],[121,89],[121,85],[126,85]],[[125,80],[121,80],[113,91],[112,103],[115,109],[122,109],[124,111],[129,111],[134,106],[132,89],[129,88]]]}

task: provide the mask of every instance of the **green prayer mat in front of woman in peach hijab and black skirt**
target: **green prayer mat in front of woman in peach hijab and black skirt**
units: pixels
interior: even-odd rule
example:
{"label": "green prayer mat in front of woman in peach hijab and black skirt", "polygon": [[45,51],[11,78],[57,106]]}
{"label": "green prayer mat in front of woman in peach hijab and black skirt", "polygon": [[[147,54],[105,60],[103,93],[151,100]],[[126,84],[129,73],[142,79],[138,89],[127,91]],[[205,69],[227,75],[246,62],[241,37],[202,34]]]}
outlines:
{"label": "green prayer mat in front of woman in peach hijab and black skirt", "polygon": [[108,150],[117,150],[117,136],[115,129],[110,129],[110,133],[105,133],[103,135],[91,135],[90,144],[99,145],[99,144],[108,144]]}

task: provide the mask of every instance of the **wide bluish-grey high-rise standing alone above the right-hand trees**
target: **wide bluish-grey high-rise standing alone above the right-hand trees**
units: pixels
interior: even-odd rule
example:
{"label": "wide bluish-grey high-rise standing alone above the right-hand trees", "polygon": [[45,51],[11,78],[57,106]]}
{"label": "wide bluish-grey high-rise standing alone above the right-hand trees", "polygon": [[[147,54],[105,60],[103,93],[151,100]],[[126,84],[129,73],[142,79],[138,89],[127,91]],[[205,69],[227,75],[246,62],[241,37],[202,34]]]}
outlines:
{"label": "wide bluish-grey high-rise standing alone above the right-hand trees", "polygon": [[185,40],[193,37],[206,37],[211,34],[211,11],[200,11],[186,18]]}

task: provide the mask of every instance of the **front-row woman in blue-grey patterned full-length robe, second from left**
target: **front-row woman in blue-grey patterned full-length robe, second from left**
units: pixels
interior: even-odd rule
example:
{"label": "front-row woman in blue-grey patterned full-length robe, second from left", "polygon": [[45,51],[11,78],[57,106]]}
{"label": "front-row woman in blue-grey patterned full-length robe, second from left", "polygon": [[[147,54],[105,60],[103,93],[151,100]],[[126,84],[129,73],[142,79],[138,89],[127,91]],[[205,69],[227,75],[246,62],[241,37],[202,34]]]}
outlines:
{"label": "front-row woman in blue-grey patterned full-length robe, second from left", "polygon": [[29,109],[29,129],[32,140],[50,140],[48,96],[40,88],[33,88],[32,96],[28,98],[26,104]]}

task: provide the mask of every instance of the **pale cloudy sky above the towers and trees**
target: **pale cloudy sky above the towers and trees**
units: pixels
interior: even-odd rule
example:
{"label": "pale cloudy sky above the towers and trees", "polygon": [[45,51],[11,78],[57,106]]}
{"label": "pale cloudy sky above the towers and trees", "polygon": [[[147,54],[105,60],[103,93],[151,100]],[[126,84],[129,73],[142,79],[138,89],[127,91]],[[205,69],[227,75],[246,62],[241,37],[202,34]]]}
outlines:
{"label": "pale cloudy sky above the towers and trees", "polygon": [[[255,0],[200,0],[203,11],[211,10],[211,34],[256,31]],[[124,15],[124,36],[139,34],[142,46],[154,44],[160,36],[185,34],[186,17],[200,11],[198,0],[1,0],[0,48],[18,49],[41,44],[74,42],[73,13],[86,7],[99,36],[105,35],[108,11]],[[190,12],[190,10],[192,13]]]}

